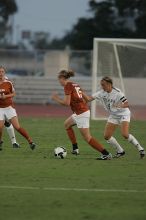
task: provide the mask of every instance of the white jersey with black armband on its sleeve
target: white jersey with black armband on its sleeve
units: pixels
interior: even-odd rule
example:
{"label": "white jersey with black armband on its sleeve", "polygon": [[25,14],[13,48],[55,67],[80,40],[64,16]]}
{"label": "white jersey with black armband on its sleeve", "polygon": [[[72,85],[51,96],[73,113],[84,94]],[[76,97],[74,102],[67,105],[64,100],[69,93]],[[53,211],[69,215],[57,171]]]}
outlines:
{"label": "white jersey with black armband on its sleeve", "polygon": [[99,90],[96,93],[92,95],[94,99],[99,100],[104,108],[110,113],[110,115],[129,115],[130,110],[129,108],[117,108],[117,106],[120,103],[124,103],[127,101],[125,95],[121,92],[120,89],[114,88],[110,93]]}

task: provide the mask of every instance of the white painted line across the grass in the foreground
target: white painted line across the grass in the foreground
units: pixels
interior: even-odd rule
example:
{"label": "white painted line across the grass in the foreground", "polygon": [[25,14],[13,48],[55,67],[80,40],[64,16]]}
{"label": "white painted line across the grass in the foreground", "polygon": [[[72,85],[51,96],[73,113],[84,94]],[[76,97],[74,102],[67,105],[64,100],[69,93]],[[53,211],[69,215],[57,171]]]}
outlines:
{"label": "white painted line across the grass in the foreground", "polygon": [[121,193],[146,193],[146,190],[135,189],[86,189],[86,188],[62,188],[62,187],[33,187],[33,186],[0,186],[0,189],[18,190],[46,190],[46,191],[76,191],[76,192],[121,192]]}

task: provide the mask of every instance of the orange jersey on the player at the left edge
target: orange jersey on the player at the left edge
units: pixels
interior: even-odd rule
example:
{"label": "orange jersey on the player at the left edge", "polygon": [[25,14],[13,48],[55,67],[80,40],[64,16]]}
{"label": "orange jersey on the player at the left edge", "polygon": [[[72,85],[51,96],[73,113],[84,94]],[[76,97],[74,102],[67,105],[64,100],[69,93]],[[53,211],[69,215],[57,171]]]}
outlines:
{"label": "orange jersey on the player at the left edge", "polygon": [[[4,80],[2,84],[0,84],[0,96],[1,95],[8,95],[15,92],[13,84],[9,80]],[[6,99],[1,99],[0,98],[0,108],[6,108],[8,106],[13,106],[13,100],[12,98],[6,98]]]}

